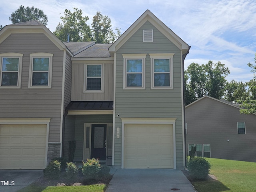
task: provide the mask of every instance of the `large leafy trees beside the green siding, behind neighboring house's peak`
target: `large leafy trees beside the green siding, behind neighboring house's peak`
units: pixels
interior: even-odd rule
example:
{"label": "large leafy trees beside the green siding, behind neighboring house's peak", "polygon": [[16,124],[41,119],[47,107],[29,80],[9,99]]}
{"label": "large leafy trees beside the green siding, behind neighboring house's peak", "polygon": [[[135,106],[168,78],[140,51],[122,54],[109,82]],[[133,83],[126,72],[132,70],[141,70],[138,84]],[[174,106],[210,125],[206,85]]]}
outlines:
{"label": "large leafy trees beside the green siding, behind neighboring house's peak", "polygon": [[224,95],[226,76],[230,71],[225,64],[209,61],[199,65],[192,63],[185,70],[185,104],[189,104],[205,95],[220,99]]}

